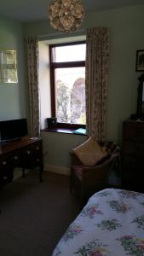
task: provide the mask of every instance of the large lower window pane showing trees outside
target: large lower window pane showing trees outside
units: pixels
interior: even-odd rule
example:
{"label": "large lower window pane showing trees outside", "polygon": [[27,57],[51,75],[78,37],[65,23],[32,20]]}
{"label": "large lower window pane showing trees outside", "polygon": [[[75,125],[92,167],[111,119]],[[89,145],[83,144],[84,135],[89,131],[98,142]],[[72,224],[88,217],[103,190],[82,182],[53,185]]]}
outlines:
{"label": "large lower window pane showing trees outside", "polygon": [[57,121],[85,125],[85,67],[56,68],[55,94]]}

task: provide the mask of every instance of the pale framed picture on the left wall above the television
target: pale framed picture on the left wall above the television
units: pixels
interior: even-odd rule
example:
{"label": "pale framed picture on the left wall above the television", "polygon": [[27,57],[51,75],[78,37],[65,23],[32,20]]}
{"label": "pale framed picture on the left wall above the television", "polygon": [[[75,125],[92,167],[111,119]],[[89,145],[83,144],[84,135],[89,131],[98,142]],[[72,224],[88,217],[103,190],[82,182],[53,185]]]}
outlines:
{"label": "pale framed picture on the left wall above the television", "polygon": [[0,84],[18,83],[16,50],[0,49]]}

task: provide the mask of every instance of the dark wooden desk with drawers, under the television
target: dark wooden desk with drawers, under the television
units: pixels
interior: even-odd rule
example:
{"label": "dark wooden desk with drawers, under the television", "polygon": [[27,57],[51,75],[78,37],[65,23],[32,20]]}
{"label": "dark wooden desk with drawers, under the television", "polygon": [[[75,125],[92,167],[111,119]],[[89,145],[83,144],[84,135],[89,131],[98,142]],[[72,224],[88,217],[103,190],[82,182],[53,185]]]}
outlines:
{"label": "dark wooden desk with drawers, under the television", "polygon": [[43,148],[41,138],[22,137],[20,140],[0,145],[0,188],[13,180],[14,168],[25,169],[39,167],[42,181]]}

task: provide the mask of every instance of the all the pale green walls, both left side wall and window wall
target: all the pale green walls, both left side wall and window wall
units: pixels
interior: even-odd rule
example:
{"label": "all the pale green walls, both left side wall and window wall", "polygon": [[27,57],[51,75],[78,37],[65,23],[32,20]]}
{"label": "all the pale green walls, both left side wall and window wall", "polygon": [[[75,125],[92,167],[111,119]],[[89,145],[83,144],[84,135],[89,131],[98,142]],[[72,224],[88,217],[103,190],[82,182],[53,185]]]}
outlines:
{"label": "all the pale green walls, both left side wall and window wall", "polygon": [[[83,27],[109,26],[110,69],[107,108],[107,139],[122,143],[122,124],[130,113],[136,111],[137,78],[135,73],[136,49],[144,47],[144,5],[94,12],[86,15]],[[24,29],[24,34],[22,34]],[[70,37],[84,32],[60,35],[49,26],[49,20],[25,23],[0,18],[0,48],[17,49],[18,84],[0,84],[0,119],[19,118],[28,113],[23,36],[36,36],[40,40]],[[50,37],[49,37],[50,34]],[[53,38],[54,38],[53,37]],[[86,137],[42,132],[43,151],[48,152],[44,163],[54,166],[69,166],[69,151],[84,142]]]}

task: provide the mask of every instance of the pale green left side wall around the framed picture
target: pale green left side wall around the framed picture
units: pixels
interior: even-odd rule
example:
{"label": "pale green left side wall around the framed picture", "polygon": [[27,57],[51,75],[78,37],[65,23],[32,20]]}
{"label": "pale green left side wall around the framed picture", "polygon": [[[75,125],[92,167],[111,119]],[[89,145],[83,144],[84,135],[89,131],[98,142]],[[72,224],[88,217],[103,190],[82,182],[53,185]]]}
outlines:
{"label": "pale green left side wall around the framed picture", "polygon": [[23,30],[20,22],[0,17],[0,48],[16,49],[18,84],[0,84],[0,119],[26,117],[27,89]]}

